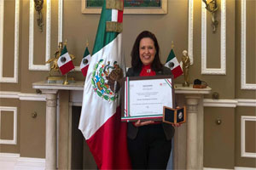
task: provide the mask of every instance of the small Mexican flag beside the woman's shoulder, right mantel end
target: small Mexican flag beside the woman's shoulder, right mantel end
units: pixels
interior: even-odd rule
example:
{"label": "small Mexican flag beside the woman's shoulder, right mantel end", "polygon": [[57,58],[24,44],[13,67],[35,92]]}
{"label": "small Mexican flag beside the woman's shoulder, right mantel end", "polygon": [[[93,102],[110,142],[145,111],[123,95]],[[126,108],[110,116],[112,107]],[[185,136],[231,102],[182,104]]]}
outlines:
{"label": "small Mexican flag beside the woman's shoulder, right mantel end", "polygon": [[183,74],[182,68],[180,67],[177,58],[175,57],[173,49],[171,50],[168,58],[166,59],[165,66],[171,69],[174,78],[177,78]]}

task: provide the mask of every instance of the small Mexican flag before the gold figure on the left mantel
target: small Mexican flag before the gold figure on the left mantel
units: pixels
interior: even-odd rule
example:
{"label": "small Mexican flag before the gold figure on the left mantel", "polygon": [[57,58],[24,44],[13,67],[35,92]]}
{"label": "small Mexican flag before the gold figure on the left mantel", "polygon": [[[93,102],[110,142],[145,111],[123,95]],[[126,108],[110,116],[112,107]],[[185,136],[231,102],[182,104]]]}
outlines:
{"label": "small Mexican flag before the gold figure on the left mantel", "polygon": [[61,50],[61,56],[59,57],[57,64],[60,68],[61,74],[65,75],[68,71],[74,69],[73,61],[70,58],[70,55],[67,52],[67,46]]}

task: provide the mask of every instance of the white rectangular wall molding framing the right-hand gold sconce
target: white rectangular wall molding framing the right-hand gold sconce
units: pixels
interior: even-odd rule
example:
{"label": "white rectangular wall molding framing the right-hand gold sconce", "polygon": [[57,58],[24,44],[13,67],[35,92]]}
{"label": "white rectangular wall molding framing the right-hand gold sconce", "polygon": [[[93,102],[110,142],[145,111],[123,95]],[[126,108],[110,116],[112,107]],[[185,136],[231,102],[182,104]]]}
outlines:
{"label": "white rectangular wall molding framing the right-hand gold sconce", "polygon": [[201,74],[226,75],[226,0],[221,1],[220,68],[207,68],[207,11],[201,2]]}

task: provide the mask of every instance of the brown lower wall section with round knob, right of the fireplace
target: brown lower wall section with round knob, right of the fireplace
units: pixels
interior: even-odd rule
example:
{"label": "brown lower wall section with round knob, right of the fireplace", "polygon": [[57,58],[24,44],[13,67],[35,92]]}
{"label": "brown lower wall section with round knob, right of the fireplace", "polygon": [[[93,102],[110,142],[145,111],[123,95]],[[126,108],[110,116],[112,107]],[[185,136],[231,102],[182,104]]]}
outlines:
{"label": "brown lower wall section with round knob, right of the fireplace", "polygon": [[[234,168],[235,109],[207,107],[204,114],[204,167]],[[221,120],[221,124],[216,121]]]}

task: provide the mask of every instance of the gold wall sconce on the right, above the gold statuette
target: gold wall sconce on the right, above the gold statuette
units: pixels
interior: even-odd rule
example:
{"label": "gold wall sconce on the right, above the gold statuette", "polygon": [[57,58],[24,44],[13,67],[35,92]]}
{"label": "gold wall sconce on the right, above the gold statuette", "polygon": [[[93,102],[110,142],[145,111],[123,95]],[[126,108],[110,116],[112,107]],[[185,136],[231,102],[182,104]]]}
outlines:
{"label": "gold wall sconce on the right, above the gold statuette", "polygon": [[212,14],[212,32],[215,33],[216,27],[218,26],[218,20],[216,20],[215,13],[218,10],[218,4],[217,0],[208,0],[209,3],[207,3],[207,0],[202,0],[204,3],[206,3],[206,9]]}

